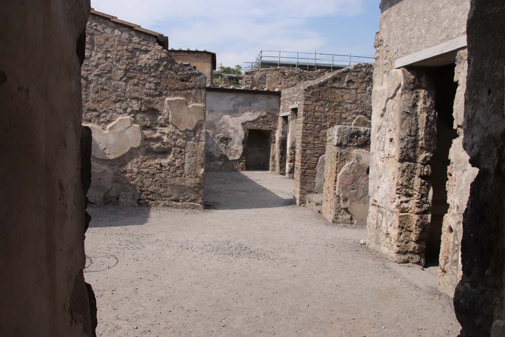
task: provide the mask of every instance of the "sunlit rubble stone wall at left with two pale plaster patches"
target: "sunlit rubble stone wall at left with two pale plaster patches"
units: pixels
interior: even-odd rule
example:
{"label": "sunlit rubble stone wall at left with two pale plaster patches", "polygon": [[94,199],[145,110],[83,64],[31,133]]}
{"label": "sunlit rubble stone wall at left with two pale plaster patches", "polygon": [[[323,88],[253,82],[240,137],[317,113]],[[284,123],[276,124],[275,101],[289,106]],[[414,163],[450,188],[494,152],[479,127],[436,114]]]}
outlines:
{"label": "sunlit rubble stone wall at left with two pale plaster patches", "polygon": [[157,36],[91,15],[82,67],[96,204],[203,205],[205,77]]}

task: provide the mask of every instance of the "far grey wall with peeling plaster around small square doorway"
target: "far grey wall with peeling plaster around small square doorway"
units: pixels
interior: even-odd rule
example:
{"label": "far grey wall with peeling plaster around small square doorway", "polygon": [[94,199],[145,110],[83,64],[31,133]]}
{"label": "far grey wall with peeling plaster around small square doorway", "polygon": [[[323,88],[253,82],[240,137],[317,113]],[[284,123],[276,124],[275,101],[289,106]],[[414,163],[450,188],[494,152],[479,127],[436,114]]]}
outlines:
{"label": "far grey wall with peeling plaster around small square doorway", "polygon": [[245,170],[247,129],[272,130],[271,169],[280,97],[277,91],[208,88],[206,169]]}

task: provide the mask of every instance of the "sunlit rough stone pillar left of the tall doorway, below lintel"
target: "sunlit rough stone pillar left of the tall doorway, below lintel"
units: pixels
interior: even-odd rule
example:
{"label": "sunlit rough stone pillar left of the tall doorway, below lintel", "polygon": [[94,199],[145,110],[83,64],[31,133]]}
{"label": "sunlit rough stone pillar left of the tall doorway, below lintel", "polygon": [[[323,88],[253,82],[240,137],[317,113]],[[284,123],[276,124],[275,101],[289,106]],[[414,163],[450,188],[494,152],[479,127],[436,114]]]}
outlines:
{"label": "sunlit rough stone pillar left of the tall doorway, below lintel", "polygon": [[[427,180],[435,142],[433,88],[422,71],[393,72],[388,77],[394,81],[392,85],[374,85],[374,92],[378,92],[373,95],[367,245],[396,262],[424,264],[429,220],[416,215],[430,208]],[[397,75],[401,78],[399,89]],[[379,74],[374,72],[374,83],[379,80],[376,77]],[[400,219],[408,222],[399,223]],[[409,242],[408,233],[414,232],[424,235]]]}

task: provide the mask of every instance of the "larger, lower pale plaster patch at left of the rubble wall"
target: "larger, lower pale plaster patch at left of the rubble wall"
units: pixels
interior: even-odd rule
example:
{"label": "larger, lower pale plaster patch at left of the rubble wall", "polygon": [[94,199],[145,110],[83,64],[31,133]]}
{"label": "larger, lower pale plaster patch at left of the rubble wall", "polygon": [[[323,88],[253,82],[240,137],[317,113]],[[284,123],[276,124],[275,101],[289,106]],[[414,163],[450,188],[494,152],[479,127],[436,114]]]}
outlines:
{"label": "larger, lower pale plaster patch at left of the rubble wall", "polygon": [[93,143],[91,155],[98,159],[116,159],[131,148],[138,148],[142,141],[142,131],[132,125],[130,116],[119,117],[109,124],[106,130],[97,125],[82,124],[91,129]]}

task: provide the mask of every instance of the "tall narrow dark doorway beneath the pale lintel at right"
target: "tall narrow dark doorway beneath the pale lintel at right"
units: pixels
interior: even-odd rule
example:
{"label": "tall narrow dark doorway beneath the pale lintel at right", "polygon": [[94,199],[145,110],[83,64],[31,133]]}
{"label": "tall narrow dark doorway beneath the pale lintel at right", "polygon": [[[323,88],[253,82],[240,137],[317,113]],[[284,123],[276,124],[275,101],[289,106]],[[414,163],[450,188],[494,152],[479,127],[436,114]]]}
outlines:
{"label": "tall narrow dark doorway beneath the pale lintel at right", "polygon": [[444,215],[447,213],[446,183],[447,168],[449,166],[449,150],[452,140],[458,134],[453,128],[453,106],[458,84],[454,82],[455,65],[450,64],[438,67],[433,71],[435,84],[435,111],[436,123],[436,148],[430,162],[430,183],[433,188],[431,200],[431,222],[426,243],[426,266],[438,265],[440,244],[442,236],[442,224]]}

